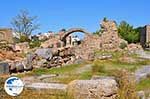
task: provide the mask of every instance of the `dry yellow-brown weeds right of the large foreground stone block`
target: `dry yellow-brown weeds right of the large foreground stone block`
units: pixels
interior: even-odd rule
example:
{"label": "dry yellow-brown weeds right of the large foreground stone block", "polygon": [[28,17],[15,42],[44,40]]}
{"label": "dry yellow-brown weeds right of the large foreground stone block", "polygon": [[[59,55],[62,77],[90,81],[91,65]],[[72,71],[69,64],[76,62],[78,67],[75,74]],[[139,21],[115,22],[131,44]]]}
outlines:
{"label": "dry yellow-brown weeds right of the large foreground stone block", "polygon": [[113,75],[119,84],[118,99],[138,99],[134,78],[128,71],[115,70]]}

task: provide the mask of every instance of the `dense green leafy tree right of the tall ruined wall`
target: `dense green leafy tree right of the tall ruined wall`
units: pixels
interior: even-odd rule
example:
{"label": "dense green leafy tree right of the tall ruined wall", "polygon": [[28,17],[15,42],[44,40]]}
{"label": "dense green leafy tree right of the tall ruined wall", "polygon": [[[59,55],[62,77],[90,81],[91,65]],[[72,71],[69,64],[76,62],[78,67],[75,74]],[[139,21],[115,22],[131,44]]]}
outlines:
{"label": "dense green leafy tree right of the tall ruined wall", "polygon": [[122,21],[118,27],[119,35],[128,43],[138,43],[140,41],[140,29],[133,28],[127,22]]}

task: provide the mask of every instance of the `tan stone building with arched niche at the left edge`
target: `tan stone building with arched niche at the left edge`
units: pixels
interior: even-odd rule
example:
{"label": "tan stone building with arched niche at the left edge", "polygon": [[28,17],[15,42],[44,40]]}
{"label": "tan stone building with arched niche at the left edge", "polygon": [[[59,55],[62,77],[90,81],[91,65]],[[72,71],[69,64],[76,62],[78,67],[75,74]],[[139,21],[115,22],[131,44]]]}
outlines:
{"label": "tan stone building with arched niche at the left edge", "polygon": [[0,41],[6,40],[9,43],[13,43],[12,29],[0,28]]}

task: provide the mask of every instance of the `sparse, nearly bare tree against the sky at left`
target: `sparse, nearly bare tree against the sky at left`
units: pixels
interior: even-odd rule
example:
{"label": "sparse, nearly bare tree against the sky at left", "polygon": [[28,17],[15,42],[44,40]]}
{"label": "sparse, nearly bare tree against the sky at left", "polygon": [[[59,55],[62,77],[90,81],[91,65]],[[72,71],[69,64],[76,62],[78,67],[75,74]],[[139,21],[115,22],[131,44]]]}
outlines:
{"label": "sparse, nearly bare tree against the sky at left", "polygon": [[16,17],[12,19],[12,26],[15,33],[21,38],[29,36],[33,31],[39,29],[39,24],[36,23],[37,16],[30,16],[29,12],[22,10]]}

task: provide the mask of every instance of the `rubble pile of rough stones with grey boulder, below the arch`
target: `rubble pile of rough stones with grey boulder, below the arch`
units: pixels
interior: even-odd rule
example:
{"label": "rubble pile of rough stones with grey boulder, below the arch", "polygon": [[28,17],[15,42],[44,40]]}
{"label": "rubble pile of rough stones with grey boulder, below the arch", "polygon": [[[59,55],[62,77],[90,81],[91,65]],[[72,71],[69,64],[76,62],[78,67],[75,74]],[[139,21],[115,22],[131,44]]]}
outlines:
{"label": "rubble pile of rough stones with grey boulder, below the arch", "polygon": [[75,55],[72,48],[63,48],[54,51],[50,48],[40,48],[33,54],[35,57],[32,60],[34,68],[51,68],[71,64],[75,61]]}

